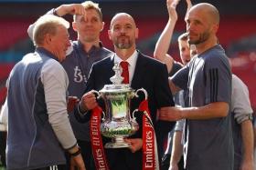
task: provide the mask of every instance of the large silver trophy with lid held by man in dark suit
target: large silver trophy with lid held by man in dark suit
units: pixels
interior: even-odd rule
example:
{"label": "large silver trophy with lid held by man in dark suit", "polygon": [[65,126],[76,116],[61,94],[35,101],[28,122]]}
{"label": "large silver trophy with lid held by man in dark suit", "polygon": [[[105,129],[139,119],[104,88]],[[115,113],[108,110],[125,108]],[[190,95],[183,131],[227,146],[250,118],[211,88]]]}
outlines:
{"label": "large silver trophy with lid held by man in dark suit", "polygon": [[101,135],[112,138],[112,142],[107,143],[105,148],[129,147],[123,141],[123,137],[133,135],[139,129],[134,117],[134,113],[138,109],[135,109],[131,116],[130,100],[133,97],[138,97],[137,94],[140,91],[147,98],[147,93],[144,88],[135,91],[130,85],[122,84],[120,65],[114,64],[112,69],[115,72],[115,75],[110,78],[112,85],[104,85],[99,92],[93,90],[98,95],[97,98],[104,100],[106,108],[106,113],[103,113],[102,116]]}

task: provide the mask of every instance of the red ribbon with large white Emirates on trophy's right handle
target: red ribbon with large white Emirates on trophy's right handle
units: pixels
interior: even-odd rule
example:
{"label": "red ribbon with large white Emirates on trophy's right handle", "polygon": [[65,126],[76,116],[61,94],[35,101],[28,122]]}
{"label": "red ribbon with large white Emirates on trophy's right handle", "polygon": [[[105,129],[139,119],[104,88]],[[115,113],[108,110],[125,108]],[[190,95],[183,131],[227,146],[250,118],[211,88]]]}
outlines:
{"label": "red ribbon with large white Emirates on trophy's right handle", "polygon": [[158,170],[158,154],[154,126],[145,99],[138,108],[143,112],[143,170]]}

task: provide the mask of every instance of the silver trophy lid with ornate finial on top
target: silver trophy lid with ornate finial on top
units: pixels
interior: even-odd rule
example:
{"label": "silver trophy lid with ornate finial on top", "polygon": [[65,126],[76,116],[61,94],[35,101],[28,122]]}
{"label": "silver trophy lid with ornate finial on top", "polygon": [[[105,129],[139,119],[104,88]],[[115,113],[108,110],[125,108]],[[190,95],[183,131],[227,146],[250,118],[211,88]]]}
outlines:
{"label": "silver trophy lid with ornate finial on top", "polygon": [[128,84],[122,84],[123,76],[121,75],[121,67],[118,63],[114,63],[112,67],[114,75],[110,78],[112,85],[104,85],[100,90],[101,93],[125,93],[132,92],[133,89]]}

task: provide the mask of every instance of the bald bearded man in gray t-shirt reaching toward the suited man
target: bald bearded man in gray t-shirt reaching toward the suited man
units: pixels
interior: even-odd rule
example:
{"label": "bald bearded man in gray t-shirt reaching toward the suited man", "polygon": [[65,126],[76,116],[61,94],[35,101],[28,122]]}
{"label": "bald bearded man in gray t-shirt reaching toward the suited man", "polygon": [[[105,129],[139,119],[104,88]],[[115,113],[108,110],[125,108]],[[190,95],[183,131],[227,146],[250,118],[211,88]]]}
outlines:
{"label": "bald bearded man in gray t-shirt reaching toward the suited man", "polygon": [[186,22],[188,43],[196,45],[197,55],[169,83],[173,93],[188,90],[189,107],[165,107],[159,118],[186,119],[186,169],[232,170],[231,71],[228,57],[217,43],[219,12],[206,3],[194,5]]}

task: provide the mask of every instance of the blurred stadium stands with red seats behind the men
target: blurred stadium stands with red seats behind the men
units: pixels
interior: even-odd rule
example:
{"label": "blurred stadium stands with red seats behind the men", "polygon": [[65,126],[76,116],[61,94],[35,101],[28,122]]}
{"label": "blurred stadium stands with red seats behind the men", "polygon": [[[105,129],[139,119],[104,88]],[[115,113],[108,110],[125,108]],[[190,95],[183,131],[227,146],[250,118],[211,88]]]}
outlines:
{"label": "blurred stadium stands with red seats behind the men", "polygon": [[[22,56],[34,51],[27,36],[27,27],[49,9],[61,4],[81,3],[79,0],[0,0],[0,105],[5,101],[5,81],[12,67]],[[107,30],[110,19],[118,12],[133,15],[140,30],[137,47],[146,55],[153,55],[155,42],[167,22],[165,0],[95,0],[101,6],[105,28],[101,41],[112,49]],[[251,105],[256,110],[256,1],[255,0],[192,0],[193,4],[208,2],[220,13],[219,43],[231,59],[232,70],[250,90]],[[187,5],[181,0],[177,6],[178,21],[169,54],[179,60],[177,36],[186,31],[184,16]],[[72,20],[70,15],[65,17]],[[72,28],[71,39],[76,39]],[[1,107],[1,106],[0,106]]]}

